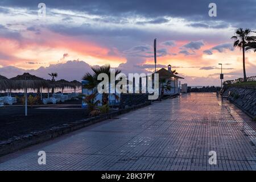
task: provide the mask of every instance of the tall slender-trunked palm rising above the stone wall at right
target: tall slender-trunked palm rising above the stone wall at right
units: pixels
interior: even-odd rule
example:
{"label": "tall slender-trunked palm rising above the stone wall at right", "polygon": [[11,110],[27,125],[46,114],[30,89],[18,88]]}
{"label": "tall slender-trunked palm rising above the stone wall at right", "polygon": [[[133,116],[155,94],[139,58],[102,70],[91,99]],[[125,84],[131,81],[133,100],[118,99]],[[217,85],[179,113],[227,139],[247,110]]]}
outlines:
{"label": "tall slender-trunked palm rising above the stone wall at right", "polygon": [[245,47],[247,43],[254,42],[256,40],[256,36],[249,36],[251,30],[246,28],[238,28],[236,30],[236,35],[232,36],[231,39],[234,39],[234,47],[240,47],[243,51],[243,81],[247,81],[246,72],[245,72]]}

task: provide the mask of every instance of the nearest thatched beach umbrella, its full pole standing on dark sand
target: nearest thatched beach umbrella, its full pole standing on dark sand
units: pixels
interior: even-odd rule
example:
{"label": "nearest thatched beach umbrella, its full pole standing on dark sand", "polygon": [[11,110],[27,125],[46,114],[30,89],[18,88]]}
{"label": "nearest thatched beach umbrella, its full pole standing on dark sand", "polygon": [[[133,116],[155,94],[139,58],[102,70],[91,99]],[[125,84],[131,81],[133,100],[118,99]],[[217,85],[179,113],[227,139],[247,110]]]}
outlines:
{"label": "nearest thatched beach umbrella, its full pole standing on dark sand", "polygon": [[25,115],[27,115],[27,89],[38,89],[41,87],[47,87],[48,82],[43,78],[39,78],[35,75],[30,75],[30,73],[18,75],[11,78],[11,80],[13,80],[14,89],[24,89]]}

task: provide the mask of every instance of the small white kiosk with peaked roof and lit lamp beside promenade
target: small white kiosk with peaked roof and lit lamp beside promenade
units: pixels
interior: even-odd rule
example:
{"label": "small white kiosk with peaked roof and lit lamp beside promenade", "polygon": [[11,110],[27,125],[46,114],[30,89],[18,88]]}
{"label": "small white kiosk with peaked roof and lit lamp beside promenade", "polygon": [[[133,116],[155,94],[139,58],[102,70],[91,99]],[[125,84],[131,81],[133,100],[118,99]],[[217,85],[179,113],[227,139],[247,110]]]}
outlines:
{"label": "small white kiosk with peaked roof and lit lamp beside promenade", "polygon": [[[174,73],[172,73],[172,67],[169,64],[168,70],[167,69],[159,69],[156,73],[159,74],[159,80],[165,79],[165,83],[170,82],[171,89],[170,90],[164,90],[164,95],[173,95],[180,93],[180,82],[179,79],[184,79],[183,77],[177,76]],[[159,89],[160,86],[159,86]]]}

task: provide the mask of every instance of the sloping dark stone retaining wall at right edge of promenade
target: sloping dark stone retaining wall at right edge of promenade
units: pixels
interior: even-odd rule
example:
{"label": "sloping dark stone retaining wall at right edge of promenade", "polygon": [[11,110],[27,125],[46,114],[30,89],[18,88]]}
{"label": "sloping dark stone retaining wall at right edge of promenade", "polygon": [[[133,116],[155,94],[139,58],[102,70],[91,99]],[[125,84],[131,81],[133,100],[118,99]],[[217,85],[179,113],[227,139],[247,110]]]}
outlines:
{"label": "sloping dark stone retaining wall at right edge of promenade", "polygon": [[[230,94],[229,94],[230,92]],[[256,88],[255,87],[228,87],[223,96],[236,104],[251,117],[256,117]]]}

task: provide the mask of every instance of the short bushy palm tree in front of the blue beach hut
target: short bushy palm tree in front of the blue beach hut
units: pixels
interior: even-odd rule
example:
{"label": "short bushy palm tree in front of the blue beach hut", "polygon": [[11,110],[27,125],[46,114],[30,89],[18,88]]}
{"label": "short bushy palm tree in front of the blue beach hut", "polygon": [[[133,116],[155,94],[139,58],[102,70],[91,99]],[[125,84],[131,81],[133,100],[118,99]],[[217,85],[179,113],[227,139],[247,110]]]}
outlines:
{"label": "short bushy palm tree in front of the blue beach hut", "polygon": [[[84,88],[86,89],[90,89],[93,90],[94,88],[96,88],[96,86],[101,82],[100,80],[98,80],[98,75],[100,75],[101,73],[106,73],[106,75],[108,75],[109,77],[109,82],[110,82],[110,74],[112,73],[110,71],[110,65],[104,65],[102,67],[97,67],[94,68],[92,67],[92,71],[93,73],[85,73],[84,77],[82,77],[83,80],[88,81],[88,84],[86,84],[84,86]],[[115,70],[115,76],[117,76],[119,73],[121,73],[121,70],[116,69]],[[102,94],[102,105],[106,105],[108,104],[108,100],[109,100],[109,94],[108,93],[103,93]]]}

